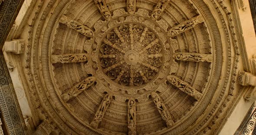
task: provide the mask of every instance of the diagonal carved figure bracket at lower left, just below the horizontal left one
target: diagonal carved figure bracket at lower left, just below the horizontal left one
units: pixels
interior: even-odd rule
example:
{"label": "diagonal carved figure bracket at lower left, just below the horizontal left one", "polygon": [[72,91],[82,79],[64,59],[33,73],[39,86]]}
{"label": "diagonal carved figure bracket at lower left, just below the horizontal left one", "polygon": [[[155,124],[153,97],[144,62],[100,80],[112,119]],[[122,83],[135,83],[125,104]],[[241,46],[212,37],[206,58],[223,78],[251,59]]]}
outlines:
{"label": "diagonal carved figure bracket at lower left, just below the horizontal left one", "polygon": [[84,90],[88,89],[92,84],[94,84],[96,81],[95,77],[87,77],[85,80],[83,80],[81,83],[75,85],[70,90],[68,90],[66,93],[62,94],[63,100],[67,102],[72,97],[78,96],[80,93],[82,93]]}

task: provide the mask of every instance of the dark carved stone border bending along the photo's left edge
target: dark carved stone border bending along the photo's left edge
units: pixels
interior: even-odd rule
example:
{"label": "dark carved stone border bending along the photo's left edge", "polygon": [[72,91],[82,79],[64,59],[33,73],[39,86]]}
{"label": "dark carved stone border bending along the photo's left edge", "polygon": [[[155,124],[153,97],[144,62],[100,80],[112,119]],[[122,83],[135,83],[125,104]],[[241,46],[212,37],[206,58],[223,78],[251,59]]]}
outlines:
{"label": "dark carved stone border bending along the photo's left edge", "polygon": [[[0,48],[3,47],[24,0],[4,0],[3,3],[2,1],[0,0]],[[0,51],[0,108],[3,115],[2,122],[5,122],[8,130],[6,134],[26,135],[25,121],[2,51]]]}

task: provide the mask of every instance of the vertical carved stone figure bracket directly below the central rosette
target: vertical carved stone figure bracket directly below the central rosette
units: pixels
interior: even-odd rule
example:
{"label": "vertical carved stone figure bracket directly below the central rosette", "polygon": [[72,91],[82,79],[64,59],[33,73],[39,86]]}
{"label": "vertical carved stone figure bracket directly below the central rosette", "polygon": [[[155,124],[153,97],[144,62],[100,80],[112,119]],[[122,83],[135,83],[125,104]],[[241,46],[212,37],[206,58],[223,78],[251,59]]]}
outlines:
{"label": "vertical carved stone figure bracket directly below the central rosette", "polygon": [[128,101],[128,135],[136,135],[136,102]]}

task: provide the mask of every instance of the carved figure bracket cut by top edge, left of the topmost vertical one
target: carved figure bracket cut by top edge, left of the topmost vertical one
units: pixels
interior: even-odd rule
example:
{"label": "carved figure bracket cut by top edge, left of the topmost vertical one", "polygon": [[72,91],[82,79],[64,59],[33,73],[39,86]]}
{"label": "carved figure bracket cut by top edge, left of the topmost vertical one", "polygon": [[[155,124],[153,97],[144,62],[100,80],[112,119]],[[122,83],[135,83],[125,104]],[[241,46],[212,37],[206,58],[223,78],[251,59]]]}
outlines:
{"label": "carved figure bracket cut by top edge, left of the topmost vertical one", "polygon": [[108,9],[108,6],[105,0],[94,0],[94,3],[98,7],[98,10],[102,14],[102,16],[105,17],[105,19],[109,19],[111,16],[111,13]]}

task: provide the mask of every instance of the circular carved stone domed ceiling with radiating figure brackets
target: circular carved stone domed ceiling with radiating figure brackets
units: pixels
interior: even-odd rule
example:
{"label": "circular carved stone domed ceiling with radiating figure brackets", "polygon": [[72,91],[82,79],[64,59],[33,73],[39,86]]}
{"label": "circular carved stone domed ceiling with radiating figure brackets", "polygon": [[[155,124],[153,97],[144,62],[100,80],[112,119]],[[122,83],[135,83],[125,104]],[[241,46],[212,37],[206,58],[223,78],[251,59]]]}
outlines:
{"label": "circular carved stone domed ceiling with radiating figure brackets", "polygon": [[28,80],[56,132],[200,134],[229,103],[238,52],[220,0],[43,3],[29,33]]}

